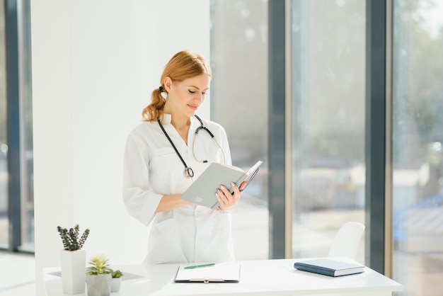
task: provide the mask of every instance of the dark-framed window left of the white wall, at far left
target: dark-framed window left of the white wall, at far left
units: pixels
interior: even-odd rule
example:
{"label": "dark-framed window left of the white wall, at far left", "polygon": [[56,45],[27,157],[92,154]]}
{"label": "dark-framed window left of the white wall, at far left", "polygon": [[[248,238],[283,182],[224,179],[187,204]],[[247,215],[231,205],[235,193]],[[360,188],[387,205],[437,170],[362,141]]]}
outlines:
{"label": "dark-framed window left of the white wall, at far left", "polygon": [[32,252],[30,4],[18,2],[1,1],[0,11],[0,248]]}

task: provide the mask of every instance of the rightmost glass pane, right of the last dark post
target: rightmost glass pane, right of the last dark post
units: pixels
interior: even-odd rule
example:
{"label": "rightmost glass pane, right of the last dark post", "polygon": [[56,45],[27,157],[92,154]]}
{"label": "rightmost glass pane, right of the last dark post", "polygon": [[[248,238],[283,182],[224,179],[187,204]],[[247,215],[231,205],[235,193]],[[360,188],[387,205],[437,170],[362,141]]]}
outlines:
{"label": "rightmost glass pane, right of the last dark post", "polygon": [[441,295],[443,2],[393,3],[393,277]]}

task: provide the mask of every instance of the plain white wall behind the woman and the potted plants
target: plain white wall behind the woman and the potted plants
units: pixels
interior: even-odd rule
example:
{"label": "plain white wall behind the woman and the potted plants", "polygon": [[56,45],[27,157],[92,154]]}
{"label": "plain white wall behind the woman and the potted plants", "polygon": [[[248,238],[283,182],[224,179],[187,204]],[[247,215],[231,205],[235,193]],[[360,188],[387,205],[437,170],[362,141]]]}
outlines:
{"label": "plain white wall behind the woman and the potted plants", "polygon": [[[207,0],[31,1],[37,295],[59,266],[57,226],[91,229],[87,257],[141,263],[147,229],[121,199],[122,154],[164,65],[209,59]],[[209,118],[209,101],[199,114]]]}

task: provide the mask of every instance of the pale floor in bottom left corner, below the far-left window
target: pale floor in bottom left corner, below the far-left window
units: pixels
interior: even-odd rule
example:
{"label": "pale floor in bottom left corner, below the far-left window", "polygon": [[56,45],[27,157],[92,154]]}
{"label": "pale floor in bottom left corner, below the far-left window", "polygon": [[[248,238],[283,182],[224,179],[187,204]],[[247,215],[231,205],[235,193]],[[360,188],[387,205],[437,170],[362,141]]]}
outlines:
{"label": "pale floor in bottom left corner, below the far-left window", "polygon": [[1,296],[35,295],[34,255],[0,251],[0,278]]}

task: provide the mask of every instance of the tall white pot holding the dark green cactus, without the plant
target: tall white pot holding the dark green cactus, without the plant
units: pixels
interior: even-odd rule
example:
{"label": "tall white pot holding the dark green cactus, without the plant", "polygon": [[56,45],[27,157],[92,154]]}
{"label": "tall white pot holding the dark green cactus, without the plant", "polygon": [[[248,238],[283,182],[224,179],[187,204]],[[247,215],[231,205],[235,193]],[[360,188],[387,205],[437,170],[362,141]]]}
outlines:
{"label": "tall white pot holding the dark green cactus, without the plant", "polygon": [[86,283],[86,250],[60,251],[60,268],[62,269],[62,286],[65,294],[85,292]]}

